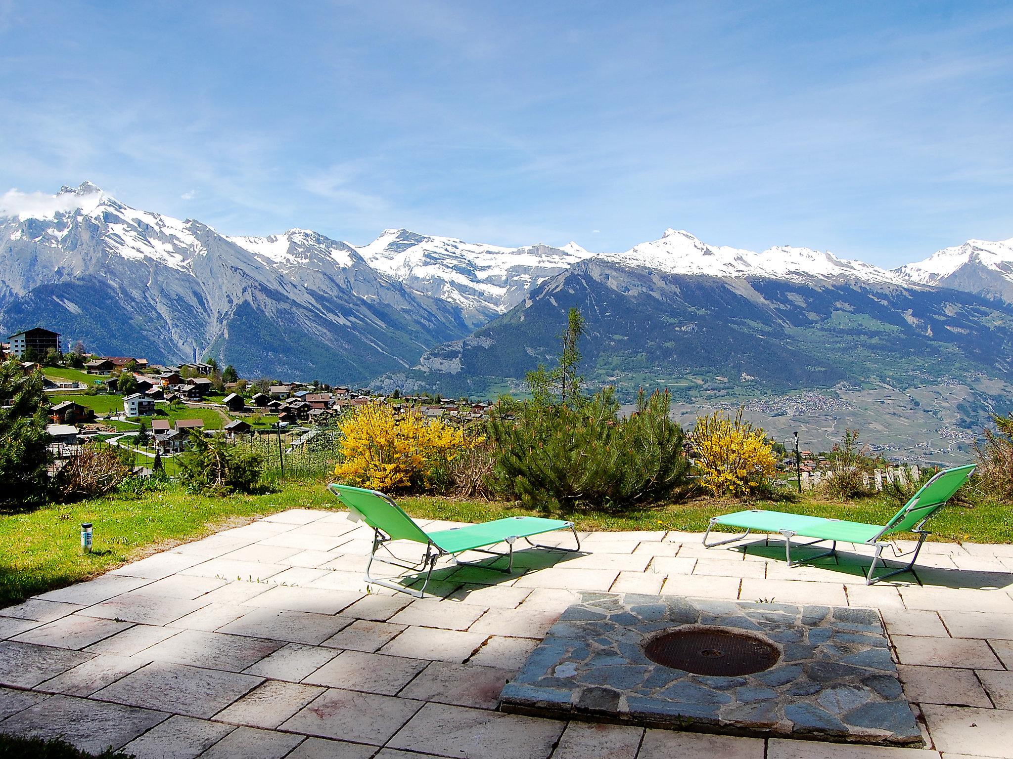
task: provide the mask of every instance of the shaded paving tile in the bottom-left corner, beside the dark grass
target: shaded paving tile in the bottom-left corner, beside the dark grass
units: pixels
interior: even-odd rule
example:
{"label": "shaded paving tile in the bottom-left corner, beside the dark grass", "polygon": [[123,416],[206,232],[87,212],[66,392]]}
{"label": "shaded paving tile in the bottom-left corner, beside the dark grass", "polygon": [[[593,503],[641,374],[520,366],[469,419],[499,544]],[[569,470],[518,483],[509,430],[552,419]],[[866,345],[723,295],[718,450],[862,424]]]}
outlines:
{"label": "shaded paving tile in the bottom-left corner, beside the dark grass", "polygon": [[130,743],[167,716],[162,711],[55,695],[5,720],[3,732],[23,738],[63,738],[82,751],[98,754]]}

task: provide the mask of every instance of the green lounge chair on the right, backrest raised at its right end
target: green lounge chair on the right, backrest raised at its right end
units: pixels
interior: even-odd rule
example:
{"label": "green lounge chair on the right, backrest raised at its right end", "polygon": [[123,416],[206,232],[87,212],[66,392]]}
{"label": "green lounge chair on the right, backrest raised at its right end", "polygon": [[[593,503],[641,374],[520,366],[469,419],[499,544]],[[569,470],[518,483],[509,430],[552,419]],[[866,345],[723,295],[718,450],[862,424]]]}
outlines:
{"label": "green lounge chair on the right, backrest raised at its right end", "polygon": [[[848,522],[843,519],[825,519],[823,517],[804,516],[801,514],[786,514],[781,511],[762,511],[761,509],[750,509],[748,511],[736,511],[733,514],[724,514],[723,516],[712,517],[710,524],[707,525],[707,531],[704,533],[703,544],[708,549],[712,549],[715,545],[723,545],[725,543],[734,542],[735,540],[742,540],[749,535],[752,530],[757,530],[758,532],[780,532],[784,535],[784,553],[788,560],[789,567],[798,567],[805,562],[811,562],[813,559],[822,559],[823,557],[833,556],[837,553],[838,540],[864,543],[865,545],[874,545],[876,553],[872,558],[872,566],[869,567],[868,577],[865,578],[865,584],[872,585],[880,580],[885,580],[887,577],[900,575],[903,572],[909,572],[912,570],[915,566],[915,561],[918,559],[918,554],[922,550],[922,543],[925,542],[926,537],[932,534],[931,532],[923,529],[925,522],[929,519],[929,517],[946,505],[946,502],[949,501],[949,499],[953,497],[953,494],[960,489],[960,486],[967,481],[967,478],[970,477],[973,471],[975,466],[968,465],[966,467],[956,467],[951,470],[940,472],[938,475],[925,483],[925,485],[923,485],[922,488],[911,497],[911,500],[908,501],[908,503],[906,503],[892,517],[890,517],[889,521],[887,521],[884,525]],[[726,524],[732,527],[745,528],[746,532],[741,535],[730,537],[727,540],[718,540],[717,542],[708,543],[707,537],[710,535],[711,527],[715,524]],[[911,558],[911,562],[901,569],[887,572],[877,577],[875,575],[876,563],[882,562],[884,568],[887,566],[886,560],[881,556],[883,549],[889,545],[893,550],[894,556],[902,556],[898,553],[898,550],[892,542],[883,540],[882,538],[885,535],[892,534],[894,532],[904,532],[908,530],[918,534],[918,545],[915,547],[914,556]],[[803,559],[801,561],[792,562],[791,538],[795,536],[815,538],[812,542],[801,543],[797,547],[815,545],[819,542],[826,542],[827,540],[831,540],[833,545],[828,552],[808,557],[807,559]]]}

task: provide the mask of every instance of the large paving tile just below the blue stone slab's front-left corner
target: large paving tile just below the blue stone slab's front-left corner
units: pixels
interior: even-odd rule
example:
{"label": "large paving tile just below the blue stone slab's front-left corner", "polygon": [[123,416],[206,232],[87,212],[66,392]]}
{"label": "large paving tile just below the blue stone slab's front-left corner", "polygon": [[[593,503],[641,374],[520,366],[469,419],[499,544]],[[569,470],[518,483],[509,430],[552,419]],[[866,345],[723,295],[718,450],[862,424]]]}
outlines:
{"label": "large paving tile just below the blue stone slab's front-left corner", "polygon": [[387,744],[467,759],[545,759],[564,723],[427,703]]}

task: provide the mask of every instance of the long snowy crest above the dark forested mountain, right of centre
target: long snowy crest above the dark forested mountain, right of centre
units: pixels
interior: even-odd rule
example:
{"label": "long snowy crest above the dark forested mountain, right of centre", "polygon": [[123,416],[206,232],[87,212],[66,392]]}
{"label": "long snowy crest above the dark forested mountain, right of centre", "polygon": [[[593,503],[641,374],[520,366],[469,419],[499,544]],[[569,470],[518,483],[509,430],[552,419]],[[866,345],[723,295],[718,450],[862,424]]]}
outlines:
{"label": "long snowy crest above the dark forested mountain, right of centre", "polygon": [[767,277],[789,281],[847,281],[900,284],[898,274],[861,261],[838,258],[833,253],[780,246],[762,253],[727,246],[712,246],[683,230],[669,229],[659,240],[640,243],[625,253],[606,253],[603,261],[663,271],[717,277]]}

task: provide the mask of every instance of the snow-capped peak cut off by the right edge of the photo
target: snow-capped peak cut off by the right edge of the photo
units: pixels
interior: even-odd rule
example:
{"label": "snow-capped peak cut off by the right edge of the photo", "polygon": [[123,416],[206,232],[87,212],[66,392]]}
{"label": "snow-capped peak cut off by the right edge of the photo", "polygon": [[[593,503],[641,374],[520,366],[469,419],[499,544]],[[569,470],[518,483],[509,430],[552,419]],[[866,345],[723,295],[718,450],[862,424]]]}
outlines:
{"label": "snow-capped peak cut off by the right edge of the photo", "polygon": [[1013,303],[1013,239],[968,240],[894,271],[907,281],[962,289]]}

